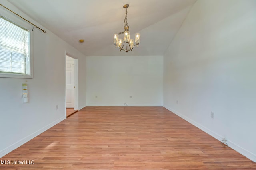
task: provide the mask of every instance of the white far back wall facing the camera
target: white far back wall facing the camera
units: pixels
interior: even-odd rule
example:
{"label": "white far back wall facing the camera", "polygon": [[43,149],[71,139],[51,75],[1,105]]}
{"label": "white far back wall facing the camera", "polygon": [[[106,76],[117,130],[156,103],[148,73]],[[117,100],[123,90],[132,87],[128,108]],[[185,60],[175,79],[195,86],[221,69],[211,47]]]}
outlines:
{"label": "white far back wall facing the camera", "polygon": [[162,106],[163,56],[87,56],[86,68],[87,106]]}

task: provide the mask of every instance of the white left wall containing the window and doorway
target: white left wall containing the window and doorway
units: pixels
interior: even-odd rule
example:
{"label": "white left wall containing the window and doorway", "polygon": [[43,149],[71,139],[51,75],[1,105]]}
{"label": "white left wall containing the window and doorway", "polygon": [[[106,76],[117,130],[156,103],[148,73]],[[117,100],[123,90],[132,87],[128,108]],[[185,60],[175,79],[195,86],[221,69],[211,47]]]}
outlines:
{"label": "white left wall containing the window and doorway", "polygon": [[[42,27],[6,0],[1,4]],[[2,15],[21,20],[3,9]],[[0,157],[66,118],[66,52],[78,59],[78,106],[86,105],[86,57],[47,29],[33,35],[34,78],[0,78]],[[28,103],[22,102],[22,83],[28,85]]]}

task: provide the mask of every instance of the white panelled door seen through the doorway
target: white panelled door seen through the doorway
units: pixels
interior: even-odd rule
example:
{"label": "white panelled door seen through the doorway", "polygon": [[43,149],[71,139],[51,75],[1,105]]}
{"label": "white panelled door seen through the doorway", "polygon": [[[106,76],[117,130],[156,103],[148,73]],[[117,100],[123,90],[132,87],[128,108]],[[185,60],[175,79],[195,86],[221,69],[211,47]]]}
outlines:
{"label": "white panelled door seen through the doorway", "polygon": [[[71,58],[71,57],[70,57]],[[74,108],[74,59],[73,61],[66,61],[66,107]]]}

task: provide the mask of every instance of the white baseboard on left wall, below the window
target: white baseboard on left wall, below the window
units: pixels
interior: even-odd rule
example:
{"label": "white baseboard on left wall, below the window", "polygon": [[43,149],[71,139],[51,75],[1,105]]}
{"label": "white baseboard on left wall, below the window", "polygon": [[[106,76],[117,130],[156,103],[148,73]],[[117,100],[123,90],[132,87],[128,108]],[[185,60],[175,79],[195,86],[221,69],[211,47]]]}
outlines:
{"label": "white baseboard on left wall, below the window", "polygon": [[66,117],[61,117],[60,119],[50,123],[49,125],[43,127],[42,129],[39,129],[38,131],[28,135],[27,137],[24,137],[23,139],[21,139],[20,141],[10,145],[9,147],[3,149],[0,151],[0,158],[2,158],[3,156],[5,156],[6,154],[12,152],[14,149],[17,149],[18,147],[20,147],[21,145],[23,145],[24,143],[27,143],[28,141],[30,141],[31,139],[33,139],[34,137],[40,135],[41,133],[43,133],[44,131],[50,129],[51,127],[53,127],[54,125],[60,123],[61,121],[63,121],[64,119],[66,119]]}

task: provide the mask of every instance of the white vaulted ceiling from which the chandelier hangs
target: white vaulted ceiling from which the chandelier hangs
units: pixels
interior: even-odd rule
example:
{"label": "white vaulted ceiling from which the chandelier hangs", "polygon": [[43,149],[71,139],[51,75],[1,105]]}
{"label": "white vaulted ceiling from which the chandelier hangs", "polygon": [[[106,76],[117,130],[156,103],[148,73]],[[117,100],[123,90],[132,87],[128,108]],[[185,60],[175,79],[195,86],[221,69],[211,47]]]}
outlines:
{"label": "white vaulted ceiling from which the chandelier hangs", "polygon": [[[164,55],[196,0],[8,0],[84,55]],[[124,4],[138,48],[120,52],[114,33],[124,31]],[[44,28],[42,28],[44,29]],[[47,32],[46,32],[47,33]],[[123,37],[123,35],[120,35]],[[84,43],[79,43],[84,39]]]}

